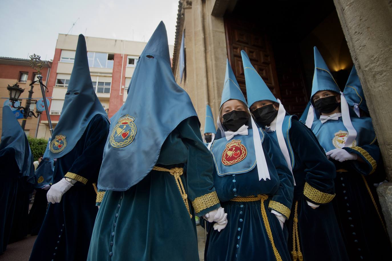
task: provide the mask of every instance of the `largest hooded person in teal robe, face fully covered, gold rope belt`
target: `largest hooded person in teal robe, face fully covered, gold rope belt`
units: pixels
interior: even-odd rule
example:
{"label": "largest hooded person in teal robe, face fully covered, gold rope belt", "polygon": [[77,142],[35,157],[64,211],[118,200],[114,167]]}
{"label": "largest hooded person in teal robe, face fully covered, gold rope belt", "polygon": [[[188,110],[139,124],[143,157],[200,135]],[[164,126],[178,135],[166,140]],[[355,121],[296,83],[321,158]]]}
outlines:
{"label": "largest hooded person in teal robe, face fully covered, gold rope belt", "polygon": [[140,55],[128,92],[111,119],[87,260],[199,260],[192,217],[226,216],[196,111],[171,71],[163,22]]}

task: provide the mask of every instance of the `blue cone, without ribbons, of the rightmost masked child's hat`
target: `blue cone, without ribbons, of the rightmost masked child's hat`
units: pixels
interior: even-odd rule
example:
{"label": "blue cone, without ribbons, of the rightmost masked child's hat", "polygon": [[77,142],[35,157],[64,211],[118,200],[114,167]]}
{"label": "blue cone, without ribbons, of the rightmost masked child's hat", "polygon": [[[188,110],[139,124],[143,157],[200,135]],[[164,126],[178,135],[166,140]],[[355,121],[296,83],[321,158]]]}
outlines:
{"label": "blue cone, without ribbons, of the rightmost masked child's hat", "polygon": [[[339,86],[334,77],[329,71],[327,64],[321,56],[317,47],[314,47],[314,75],[312,83],[312,95],[310,95],[310,102],[313,104],[313,95],[319,91],[330,90],[340,93]],[[313,104],[314,105],[314,104]]]}

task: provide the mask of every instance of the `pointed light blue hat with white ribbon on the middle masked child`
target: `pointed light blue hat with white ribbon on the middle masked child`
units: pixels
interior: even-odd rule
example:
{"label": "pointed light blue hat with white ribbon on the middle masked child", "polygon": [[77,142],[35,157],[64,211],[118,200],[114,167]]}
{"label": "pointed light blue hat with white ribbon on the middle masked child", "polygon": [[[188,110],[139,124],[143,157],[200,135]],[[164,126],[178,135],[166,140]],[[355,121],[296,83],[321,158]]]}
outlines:
{"label": "pointed light blue hat with white ribbon on the middle masked child", "polygon": [[[290,125],[290,124],[283,123],[285,120],[286,110],[281,104],[281,102],[279,101],[279,99],[276,99],[276,97],[269,90],[268,86],[265,84],[263,79],[254,69],[254,67],[250,63],[247,53],[244,50],[241,50],[241,57],[242,57],[242,63],[244,67],[246,92],[247,92],[249,107],[252,106],[252,104],[255,103],[256,101],[263,101],[263,100],[279,103],[278,115],[276,116],[277,117],[276,135],[278,137],[280,150],[282,151],[283,156],[285,157],[287,166],[289,167],[290,171],[292,171],[292,164],[290,158],[292,158],[292,162],[294,162],[294,155],[290,157],[289,150],[287,149],[287,146],[289,146],[289,144],[286,144],[285,142],[285,137],[283,135],[283,129],[282,129],[283,125],[287,125],[287,126]],[[285,126],[285,131],[284,131],[286,136],[288,133],[287,126]]]}

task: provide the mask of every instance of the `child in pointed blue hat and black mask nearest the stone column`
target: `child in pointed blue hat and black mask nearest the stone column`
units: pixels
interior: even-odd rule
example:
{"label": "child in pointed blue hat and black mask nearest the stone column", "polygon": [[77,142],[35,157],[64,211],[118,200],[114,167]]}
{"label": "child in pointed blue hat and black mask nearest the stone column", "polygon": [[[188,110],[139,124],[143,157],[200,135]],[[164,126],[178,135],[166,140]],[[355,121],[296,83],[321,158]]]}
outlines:
{"label": "child in pointed blue hat and black mask nearest the stone column", "polygon": [[[370,117],[358,118],[314,47],[306,124],[336,167],[334,209],[350,260],[389,260],[391,246],[372,176],[381,160]],[[311,110],[318,110],[319,119]],[[351,111],[352,112],[352,111]],[[369,182],[369,178],[372,182]],[[380,177],[379,182],[385,177]],[[370,183],[370,184],[369,184]]]}

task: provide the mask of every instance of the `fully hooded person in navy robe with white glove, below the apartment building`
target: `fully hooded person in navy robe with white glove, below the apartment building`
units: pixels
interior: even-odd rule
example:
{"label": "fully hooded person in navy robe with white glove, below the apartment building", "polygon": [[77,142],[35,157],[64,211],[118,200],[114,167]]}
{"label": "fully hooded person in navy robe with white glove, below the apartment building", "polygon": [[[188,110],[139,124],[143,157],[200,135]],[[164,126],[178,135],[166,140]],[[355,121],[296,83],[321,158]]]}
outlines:
{"label": "fully hooded person in navy robe with white glove, below the apartment building", "polygon": [[57,162],[47,192],[50,204],[30,260],[87,258],[98,211],[95,184],[108,133],[109,121],[94,92],[80,34],[60,121],[44,154]]}

